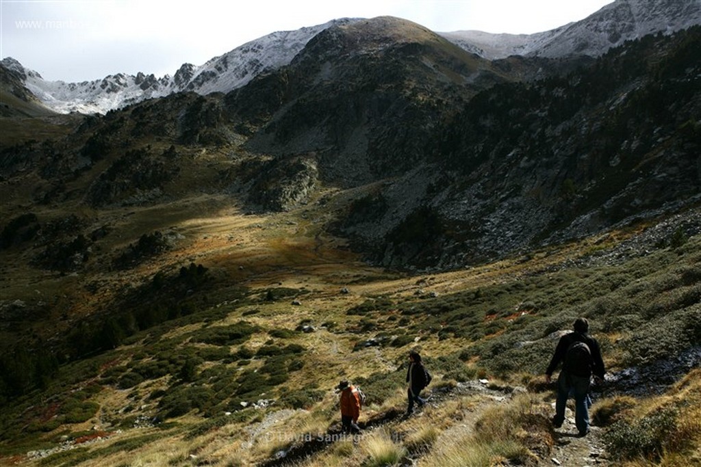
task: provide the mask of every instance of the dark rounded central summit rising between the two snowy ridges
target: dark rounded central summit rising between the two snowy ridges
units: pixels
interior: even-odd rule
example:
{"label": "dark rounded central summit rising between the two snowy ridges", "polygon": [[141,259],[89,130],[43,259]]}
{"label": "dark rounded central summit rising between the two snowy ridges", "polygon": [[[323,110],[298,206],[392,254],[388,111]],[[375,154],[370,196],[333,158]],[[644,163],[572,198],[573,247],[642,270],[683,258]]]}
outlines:
{"label": "dark rounded central summit rising between the two snowy ridges", "polygon": [[232,92],[226,104],[259,124],[247,148],[313,151],[322,179],[355,186],[406,172],[442,122],[506,79],[423,27],[376,18],[326,29],[289,67]]}

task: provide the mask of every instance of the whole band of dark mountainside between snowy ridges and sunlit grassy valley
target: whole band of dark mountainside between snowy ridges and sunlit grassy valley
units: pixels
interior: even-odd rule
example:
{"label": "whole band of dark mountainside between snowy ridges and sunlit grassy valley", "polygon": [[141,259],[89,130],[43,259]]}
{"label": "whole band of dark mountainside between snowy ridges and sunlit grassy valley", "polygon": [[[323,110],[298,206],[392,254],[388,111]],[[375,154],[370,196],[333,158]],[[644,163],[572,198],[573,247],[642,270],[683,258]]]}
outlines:
{"label": "whole band of dark mountainside between snowy ridges and sunlit grassy valley", "polygon": [[[333,228],[355,248],[461,267],[697,202],[700,29],[595,62],[489,62],[411,22],[357,21],[227,95],[152,99],[8,148],[0,174],[34,170],[35,200],[96,209],[157,203],[166,186],[254,210],[353,188]],[[198,159],[178,154],[207,148],[231,160],[195,179]]]}

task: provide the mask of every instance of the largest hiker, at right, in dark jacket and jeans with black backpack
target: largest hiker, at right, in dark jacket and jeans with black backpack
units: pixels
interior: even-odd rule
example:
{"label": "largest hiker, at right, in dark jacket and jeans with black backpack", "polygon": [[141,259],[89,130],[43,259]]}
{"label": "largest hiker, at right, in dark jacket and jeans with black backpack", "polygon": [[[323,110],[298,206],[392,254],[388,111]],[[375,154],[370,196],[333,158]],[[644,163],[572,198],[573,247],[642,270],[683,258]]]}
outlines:
{"label": "largest hiker, at right, in dark jacket and jeans with black backpack", "polygon": [[[599,342],[589,334],[589,321],[578,318],[574,322],[574,332],[560,337],[555,353],[545,370],[545,380],[550,383],[552,372],[562,363],[562,370],[557,377],[557,400],[552,424],[555,428],[562,426],[565,419],[567,398],[573,394],[575,401],[575,424],[580,436],[589,433],[589,389],[592,374],[597,382],[604,379],[606,370],[601,358]],[[578,344],[583,342],[586,346]]]}

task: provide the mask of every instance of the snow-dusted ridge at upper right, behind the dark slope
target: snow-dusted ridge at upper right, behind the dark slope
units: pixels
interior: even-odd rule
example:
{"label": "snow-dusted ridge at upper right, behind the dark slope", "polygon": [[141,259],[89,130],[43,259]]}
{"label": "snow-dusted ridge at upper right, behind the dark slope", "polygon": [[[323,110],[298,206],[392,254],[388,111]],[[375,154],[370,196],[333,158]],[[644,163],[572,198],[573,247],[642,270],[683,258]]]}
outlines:
{"label": "snow-dusted ridge at upper right, behind the dark slope", "polygon": [[617,0],[584,20],[536,34],[481,31],[441,33],[468,52],[491,60],[509,55],[597,57],[625,41],[701,24],[701,0]]}

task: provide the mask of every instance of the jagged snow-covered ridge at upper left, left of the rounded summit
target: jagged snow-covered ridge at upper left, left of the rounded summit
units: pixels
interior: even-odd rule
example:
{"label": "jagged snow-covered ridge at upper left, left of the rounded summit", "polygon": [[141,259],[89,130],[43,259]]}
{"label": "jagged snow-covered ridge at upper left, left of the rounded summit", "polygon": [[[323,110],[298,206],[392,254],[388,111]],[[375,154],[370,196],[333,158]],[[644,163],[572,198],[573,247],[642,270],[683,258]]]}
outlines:
{"label": "jagged snow-covered ridge at upper left, left of the rounded summit", "polygon": [[54,111],[107,113],[127,104],[173,92],[193,91],[206,95],[240,88],[264,71],[289,64],[309,39],[322,30],[353,21],[344,18],[296,31],[273,32],[212,58],[203,65],[183,64],[174,76],[162,78],[156,78],[153,74],[133,76],[119,73],[101,80],[65,83],[46,81],[39,73],[25,69],[11,57],[2,60],[1,64],[23,76],[27,89]]}

